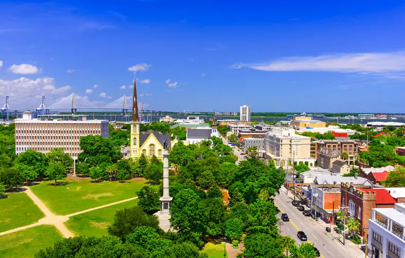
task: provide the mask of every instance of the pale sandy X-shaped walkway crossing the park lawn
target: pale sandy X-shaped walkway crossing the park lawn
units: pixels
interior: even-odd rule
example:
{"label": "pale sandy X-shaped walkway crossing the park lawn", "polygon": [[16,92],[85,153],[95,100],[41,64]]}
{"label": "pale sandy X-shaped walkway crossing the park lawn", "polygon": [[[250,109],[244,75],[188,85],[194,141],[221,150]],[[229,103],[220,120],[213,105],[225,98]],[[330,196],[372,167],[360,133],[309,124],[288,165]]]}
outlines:
{"label": "pale sandy X-shaped walkway crossing the park lawn", "polygon": [[101,205],[101,206],[94,207],[94,208],[87,209],[87,210],[74,212],[74,213],[71,213],[71,214],[68,214],[68,215],[56,215],[56,214],[52,213],[48,209],[48,207],[41,200],[39,200],[39,198],[31,191],[31,189],[29,187],[24,186],[22,188],[26,189],[24,192],[31,198],[31,200],[34,202],[34,204],[36,206],[38,206],[38,208],[45,214],[45,217],[43,217],[42,219],[39,219],[39,221],[36,222],[36,223],[30,224],[30,225],[27,225],[27,226],[23,226],[23,227],[10,229],[10,230],[4,231],[4,232],[0,232],[0,236],[10,234],[10,233],[14,233],[14,232],[17,232],[17,231],[21,231],[21,230],[28,229],[28,228],[33,228],[33,227],[36,227],[36,226],[39,226],[39,225],[53,225],[53,226],[56,227],[57,230],[60,231],[60,233],[62,233],[62,235],[64,237],[73,237],[74,234],[64,224],[64,222],[69,220],[69,217],[76,216],[76,215],[79,215],[79,214],[83,214],[83,213],[93,211],[93,210],[106,208],[106,207],[113,206],[113,205],[116,205],[116,204],[129,202],[129,201],[132,201],[132,200],[135,200],[135,199],[138,198],[136,196],[136,197],[132,197],[132,198],[129,198],[129,199],[122,200],[122,201]]}

